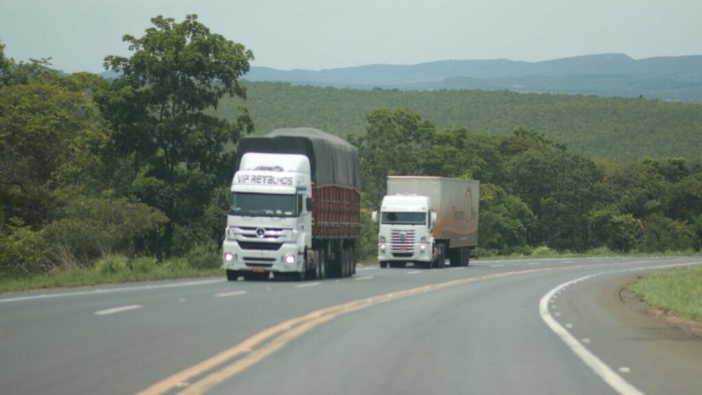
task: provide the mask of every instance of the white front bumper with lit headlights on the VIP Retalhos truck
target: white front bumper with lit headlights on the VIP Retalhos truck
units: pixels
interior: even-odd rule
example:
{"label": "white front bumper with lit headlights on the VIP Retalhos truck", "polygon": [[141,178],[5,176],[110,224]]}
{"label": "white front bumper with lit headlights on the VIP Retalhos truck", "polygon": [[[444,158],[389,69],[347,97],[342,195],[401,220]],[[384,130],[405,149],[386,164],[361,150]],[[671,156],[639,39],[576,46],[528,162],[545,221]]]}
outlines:
{"label": "white front bumper with lit headlights on the VIP Retalhos truck", "polygon": [[292,273],[303,271],[305,257],[298,245],[283,243],[278,250],[244,250],[234,240],[222,243],[222,267],[241,273],[272,271]]}

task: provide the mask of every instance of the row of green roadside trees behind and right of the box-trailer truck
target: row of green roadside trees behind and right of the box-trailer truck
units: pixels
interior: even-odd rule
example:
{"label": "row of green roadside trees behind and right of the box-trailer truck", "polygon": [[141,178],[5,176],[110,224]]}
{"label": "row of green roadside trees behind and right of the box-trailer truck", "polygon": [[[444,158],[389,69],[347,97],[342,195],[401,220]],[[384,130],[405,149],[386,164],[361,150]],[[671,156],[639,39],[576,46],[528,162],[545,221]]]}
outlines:
{"label": "row of green roadside trees behind and right of the box-trailer truck", "polygon": [[[376,110],[367,122],[366,134],[351,138],[362,160],[367,211],[380,204],[388,175],[477,179],[479,256],[700,250],[698,164],[595,162],[536,131],[488,136],[439,129],[409,110]],[[373,245],[376,228],[362,231],[362,242]]]}

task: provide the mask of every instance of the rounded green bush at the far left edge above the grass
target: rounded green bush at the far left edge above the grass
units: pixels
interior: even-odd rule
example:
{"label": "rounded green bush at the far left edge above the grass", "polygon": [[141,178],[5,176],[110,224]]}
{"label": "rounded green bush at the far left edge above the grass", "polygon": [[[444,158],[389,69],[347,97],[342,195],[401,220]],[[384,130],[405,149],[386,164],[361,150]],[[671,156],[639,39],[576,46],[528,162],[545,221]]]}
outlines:
{"label": "rounded green bush at the far left edge above the grass", "polygon": [[21,221],[11,222],[9,232],[0,233],[0,276],[27,276],[50,271],[44,233],[22,226]]}

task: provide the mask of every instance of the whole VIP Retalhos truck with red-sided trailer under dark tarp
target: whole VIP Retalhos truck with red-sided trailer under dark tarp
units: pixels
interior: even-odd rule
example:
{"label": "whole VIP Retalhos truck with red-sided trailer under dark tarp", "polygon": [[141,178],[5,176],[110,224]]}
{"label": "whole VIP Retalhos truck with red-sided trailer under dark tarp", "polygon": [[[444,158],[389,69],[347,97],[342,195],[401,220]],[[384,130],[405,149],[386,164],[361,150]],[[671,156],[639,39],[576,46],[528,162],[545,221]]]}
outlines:
{"label": "whole VIP Retalhos truck with red-sided trailer under dark tarp", "polygon": [[359,237],[357,149],[311,128],[239,141],[222,245],[227,280],[352,276]]}

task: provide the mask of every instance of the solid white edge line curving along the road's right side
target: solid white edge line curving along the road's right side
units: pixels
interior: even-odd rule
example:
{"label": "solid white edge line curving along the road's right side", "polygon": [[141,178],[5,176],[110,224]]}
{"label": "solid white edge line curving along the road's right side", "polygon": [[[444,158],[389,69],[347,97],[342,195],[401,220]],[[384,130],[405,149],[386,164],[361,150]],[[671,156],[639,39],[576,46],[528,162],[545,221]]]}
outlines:
{"label": "solid white edge line curving along the road's right side", "polygon": [[556,294],[556,292],[559,292],[565,287],[568,287],[569,285],[573,285],[575,283],[579,283],[584,280],[588,280],[592,277],[595,276],[600,276],[602,274],[609,274],[609,273],[620,273],[620,272],[625,272],[625,271],[640,271],[640,270],[655,270],[655,269],[661,269],[661,268],[671,268],[671,267],[679,267],[679,266],[691,266],[694,264],[699,264],[699,262],[692,263],[692,264],[672,264],[672,265],[665,265],[665,266],[649,266],[649,267],[643,267],[643,268],[633,268],[633,269],[626,269],[626,270],[620,270],[620,271],[604,271],[600,273],[595,273],[595,274],[590,274],[589,276],[583,276],[581,278],[576,278],[575,280],[568,281],[567,283],[562,283],[561,285],[558,285],[557,287],[553,288],[550,290],[547,294],[543,295],[541,298],[541,301],[538,303],[538,312],[541,314],[541,319],[543,320],[546,325],[548,325],[548,328],[550,328],[558,337],[560,337],[563,342],[571,349],[571,351],[576,354],[581,360],[585,363],[585,365],[588,365],[596,375],[600,376],[604,382],[609,384],[609,387],[612,387],[615,391],[617,391],[619,394],[622,395],[644,395],[642,391],[634,387],[632,384],[629,384],[626,380],[623,379],[620,375],[618,375],[614,370],[612,370],[609,366],[607,366],[606,363],[602,362],[600,358],[597,358],[595,354],[592,354],[590,350],[586,349],[585,346],[581,342],[578,342],[578,339],[576,339],[573,335],[571,335],[570,332],[568,332],[561,324],[558,323],[555,318],[551,316],[551,313],[548,311],[548,303],[550,299],[553,297],[553,295]]}

